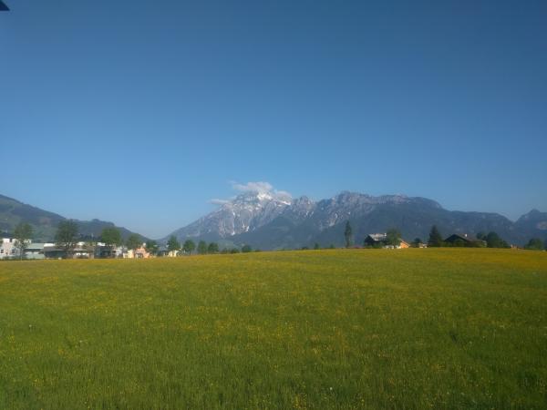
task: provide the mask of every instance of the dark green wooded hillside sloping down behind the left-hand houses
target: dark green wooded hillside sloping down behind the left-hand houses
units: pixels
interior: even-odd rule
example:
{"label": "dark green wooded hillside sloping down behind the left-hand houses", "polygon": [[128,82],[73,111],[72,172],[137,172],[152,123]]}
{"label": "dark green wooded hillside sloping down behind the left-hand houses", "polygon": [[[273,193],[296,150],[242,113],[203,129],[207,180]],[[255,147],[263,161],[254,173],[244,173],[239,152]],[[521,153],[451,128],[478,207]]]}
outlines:
{"label": "dark green wooded hillside sloping down behind the left-hand houses", "polygon": [[[14,231],[17,223],[27,222],[33,228],[34,241],[53,241],[61,220],[67,220],[67,218],[0,195],[0,232],[8,234]],[[101,231],[107,227],[118,228],[124,240],[133,233],[104,220],[76,220],[76,222],[82,239],[98,238]],[[143,239],[146,240],[145,237]]]}

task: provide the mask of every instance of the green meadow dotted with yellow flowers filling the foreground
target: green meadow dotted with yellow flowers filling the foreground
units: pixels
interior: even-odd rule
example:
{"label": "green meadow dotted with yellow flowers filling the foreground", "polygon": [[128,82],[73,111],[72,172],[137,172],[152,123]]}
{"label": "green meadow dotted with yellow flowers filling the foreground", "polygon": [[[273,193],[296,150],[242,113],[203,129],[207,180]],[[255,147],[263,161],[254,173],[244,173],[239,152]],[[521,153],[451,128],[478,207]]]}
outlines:
{"label": "green meadow dotted with yellow flowers filling the foreground", "polygon": [[2,262],[0,408],[547,408],[547,252]]}

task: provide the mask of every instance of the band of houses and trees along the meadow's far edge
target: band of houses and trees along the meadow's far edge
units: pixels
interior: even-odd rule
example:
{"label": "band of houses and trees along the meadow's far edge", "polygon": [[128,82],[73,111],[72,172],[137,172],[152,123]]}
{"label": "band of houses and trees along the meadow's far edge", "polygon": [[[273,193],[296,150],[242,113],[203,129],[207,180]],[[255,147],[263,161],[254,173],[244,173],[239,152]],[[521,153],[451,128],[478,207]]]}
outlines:
{"label": "band of houses and trees along the meadow's far edge", "polygon": [[[59,225],[56,242],[33,242],[32,228],[28,224],[20,224],[15,229],[15,234],[10,238],[3,238],[0,243],[0,260],[44,260],[44,259],[148,259],[155,257],[177,257],[197,253],[236,253],[253,251],[251,246],[244,245],[241,249],[219,249],[216,242],[207,243],[199,241],[198,244],[191,240],[181,244],[174,236],[166,245],[159,246],[156,241],[141,241],[139,235],[131,234],[127,241],[121,240],[121,235],[116,228],[106,228],[101,235],[103,241],[77,241],[77,227],[68,220]],[[474,247],[474,248],[518,248],[503,241],[495,232],[471,236],[468,234],[453,233],[443,239],[436,226],[431,228],[428,241],[416,238],[408,242],[401,238],[396,229],[384,233],[370,233],[366,236],[363,245],[356,245],[352,241],[352,229],[346,223],[345,240],[346,248],[374,248],[374,249],[405,249],[428,247]],[[330,245],[328,248],[335,248]],[[541,240],[532,239],[526,249],[543,250]],[[301,248],[303,250],[308,247]],[[315,243],[313,249],[321,249]],[[257,250],[255,250],[257,251]]]}

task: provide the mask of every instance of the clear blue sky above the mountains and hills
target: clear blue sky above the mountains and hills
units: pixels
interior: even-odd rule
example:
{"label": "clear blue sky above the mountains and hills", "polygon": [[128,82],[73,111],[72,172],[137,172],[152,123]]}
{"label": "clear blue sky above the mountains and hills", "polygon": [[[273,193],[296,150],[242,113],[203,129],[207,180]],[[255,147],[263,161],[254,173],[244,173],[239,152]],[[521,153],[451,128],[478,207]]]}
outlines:
{"label": "clear blue sky above the mountains and hills", "polygon": [[6,0],[0,193],[168,234],[267,181],[547,210],[547,2]]}

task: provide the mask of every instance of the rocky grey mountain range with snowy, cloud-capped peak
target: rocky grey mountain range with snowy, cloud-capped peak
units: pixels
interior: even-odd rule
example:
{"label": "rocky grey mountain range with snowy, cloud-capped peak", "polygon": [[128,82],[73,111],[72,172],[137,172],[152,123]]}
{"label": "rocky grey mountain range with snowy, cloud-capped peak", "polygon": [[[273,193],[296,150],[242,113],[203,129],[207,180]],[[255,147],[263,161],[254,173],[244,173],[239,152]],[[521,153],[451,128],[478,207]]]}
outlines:
{"label": "rocky grey mountain range with snowy, cloud-capped peak", "polygon": [[232,200],[214,202],[220,205],[217,210],[172,234],[180,241],[250,244],[263,250],[312,246],[315,242],[341,246],[349,220],[358,244],[368,233],[389,228],[397,228],[408,241],[417,237],[427,240],[433,224],[446,236],[496,231],[519,245],[532,237],[547,239],[545,212],[532,210],[513,222],[497,213],[445,210],[434,200],[405,195],[375,197],[344,191],[331,199],[314,201],[305,196],[293,199],[259,182]]}

